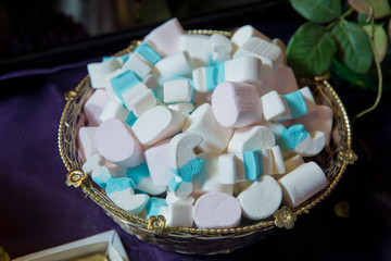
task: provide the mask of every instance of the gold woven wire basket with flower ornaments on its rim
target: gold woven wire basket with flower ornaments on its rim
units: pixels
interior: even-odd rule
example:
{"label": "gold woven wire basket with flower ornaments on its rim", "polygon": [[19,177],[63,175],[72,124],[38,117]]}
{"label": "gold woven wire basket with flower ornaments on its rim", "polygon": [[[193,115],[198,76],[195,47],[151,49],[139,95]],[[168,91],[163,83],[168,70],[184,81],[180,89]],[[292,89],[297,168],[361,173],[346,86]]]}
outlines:
{"label": "gold woven wire basket with flower ornaments on its rim", "polygon": [[[231,32],[191,30],[187,34],[222,34],[231,36]],[[140,41],[116,53],[125,54],[133,51]],[[324,200],[337,186],[348,164],[354,162],[356,156],[352,147],[351,126],[346,111],[337,92],[327,82],[327,77],[304,78],[299,86],[308,86],[318,104],[326,104],[333,110],[333,128],[330,146],[311,160],[317,162],[327,175],[327,187],[294,209],[282,206],[273,216],[245,226],[226,229],[199,229],[190,227],[172,227],[165,225],[163,216],[141,219],[116,207],[91,178],[81,171],[83,159],[79,153],[77,133],[87,124],[84,103],[92,94],[87,75],[74,89],[65,94],[66,104],[59,128],[59,149],[62,160],[68,171],[66,184],[81,189],[86,196],[101,207],[108,215],[127,233],[139,239],[157,245],[163,249],[182,253],[214,254],[230,252],[267,236],[276,227],[292,228],[294,221],[302,213],[308,213],[312,208]]]}

